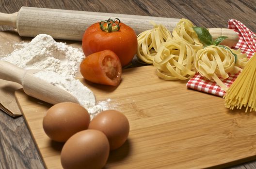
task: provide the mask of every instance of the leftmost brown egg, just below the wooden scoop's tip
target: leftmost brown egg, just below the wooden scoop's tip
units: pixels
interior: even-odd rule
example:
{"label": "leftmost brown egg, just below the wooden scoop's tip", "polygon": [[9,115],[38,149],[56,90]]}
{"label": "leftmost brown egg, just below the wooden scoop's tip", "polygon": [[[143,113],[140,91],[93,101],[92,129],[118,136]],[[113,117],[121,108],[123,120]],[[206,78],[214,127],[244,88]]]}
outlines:
{"label": "leftmost brown egg, just below the wooden scoop's tip", "polygon": [[43,128],[51,140],[65,142],[73,134],[85,130],[90,123],[87,110],[77,103],[58,103],[48,109]]}

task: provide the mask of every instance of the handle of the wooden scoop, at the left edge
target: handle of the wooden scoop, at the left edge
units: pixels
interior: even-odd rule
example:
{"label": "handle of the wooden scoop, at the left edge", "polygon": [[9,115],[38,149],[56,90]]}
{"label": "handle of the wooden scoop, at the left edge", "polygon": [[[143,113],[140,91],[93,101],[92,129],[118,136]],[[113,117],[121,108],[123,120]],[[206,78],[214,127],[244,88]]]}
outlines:
{"label": "handle of the wooden scoop, at the left edge", "polygon": [[25,73],[26,70],[20,69],[7,61],[0,60],[0,79],[22,84]]}

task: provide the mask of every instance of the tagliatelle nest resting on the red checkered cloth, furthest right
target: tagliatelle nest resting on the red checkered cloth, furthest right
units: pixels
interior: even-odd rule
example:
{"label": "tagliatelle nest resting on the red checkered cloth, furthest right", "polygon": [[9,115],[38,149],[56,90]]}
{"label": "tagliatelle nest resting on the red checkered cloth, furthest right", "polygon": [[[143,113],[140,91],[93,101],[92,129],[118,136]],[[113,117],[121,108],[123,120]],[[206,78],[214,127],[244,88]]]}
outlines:
{"label": "tagliatelle nest resting on the red checkered cloth, furthest right", "polygon": [[[237,58],[236,58],[237,57]],[[246,65],[246,54],[239,50],[230,49],[227,46],[220,47],[210,45],[197,51],[195,57],[195,69],[201,76],[213,79],[224,91],[228,88],[219,79],[228,78],[228,73],[238,73]]]}

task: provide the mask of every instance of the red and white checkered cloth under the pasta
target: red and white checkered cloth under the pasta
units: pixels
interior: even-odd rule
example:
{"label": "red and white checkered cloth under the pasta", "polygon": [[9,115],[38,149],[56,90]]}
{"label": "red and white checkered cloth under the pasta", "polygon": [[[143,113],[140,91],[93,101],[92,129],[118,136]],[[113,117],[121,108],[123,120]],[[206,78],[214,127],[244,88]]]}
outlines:
{"label": "red and white checkered cloth under the pasta", "polygon": [[[256,34],[244,26],[240,21],[235,19],[230,19],[228,21],[228,28],[234,29],[239,35],[239,42],[232,48],[240,48],[242,53],[246,53],[247,57],[251,58],[256,52]],[[227,79],[220,79],[227,87],[229,87],[236,80],[238,75],[239,73],[232,75],[229,74]],[[220,97],[223,97],[225,93],[224,90],[222,90],[221,87],[216,84],[216,82],[202,77],[199,73],[195,74],[188,81],[187,87]]]}

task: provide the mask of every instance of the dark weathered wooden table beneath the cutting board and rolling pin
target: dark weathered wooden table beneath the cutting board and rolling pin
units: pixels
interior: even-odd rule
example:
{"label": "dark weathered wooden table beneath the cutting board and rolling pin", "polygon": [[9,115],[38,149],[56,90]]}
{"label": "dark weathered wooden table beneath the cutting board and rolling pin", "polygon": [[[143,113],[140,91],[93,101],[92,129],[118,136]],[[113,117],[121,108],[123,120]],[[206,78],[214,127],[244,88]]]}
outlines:
{"label": "dark weathered wooden table beneath the cutting board and rolling pin", "polygon": [[[0,0],[1,13],[17,12],[21,6],[188,18],[206,28],[226,28],[228,19],[237,19],[256,32],[255,0]],[[0,169],[43,168],[23,117],[0,111]],[[232,167],[248,168],[256,169],[256,161]]]}

